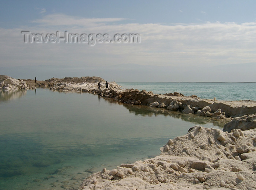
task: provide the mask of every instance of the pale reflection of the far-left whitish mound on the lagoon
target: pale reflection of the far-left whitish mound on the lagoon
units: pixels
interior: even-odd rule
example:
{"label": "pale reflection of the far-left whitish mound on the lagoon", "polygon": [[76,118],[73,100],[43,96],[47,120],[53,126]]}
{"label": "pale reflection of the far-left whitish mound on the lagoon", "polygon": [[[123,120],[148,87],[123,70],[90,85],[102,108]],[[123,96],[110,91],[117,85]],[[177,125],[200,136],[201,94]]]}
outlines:
{"label": "pale reflection of the far-left whitish mound on the lagoon", "polygon": [[26,94],[26,90],[0,90],[0,101],[17,99]]}

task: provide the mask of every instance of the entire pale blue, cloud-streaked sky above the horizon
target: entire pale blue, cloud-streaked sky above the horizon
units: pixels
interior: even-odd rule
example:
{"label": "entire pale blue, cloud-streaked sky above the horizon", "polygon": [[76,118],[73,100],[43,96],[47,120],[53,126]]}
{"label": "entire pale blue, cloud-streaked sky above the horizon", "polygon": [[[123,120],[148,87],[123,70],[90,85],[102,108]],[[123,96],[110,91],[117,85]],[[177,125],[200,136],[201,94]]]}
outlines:
{"label": "entire pale blue, cloud-streaked sky above the horizon", "polygon": [[0,3],[0,75],[256,82],[254,0]]}

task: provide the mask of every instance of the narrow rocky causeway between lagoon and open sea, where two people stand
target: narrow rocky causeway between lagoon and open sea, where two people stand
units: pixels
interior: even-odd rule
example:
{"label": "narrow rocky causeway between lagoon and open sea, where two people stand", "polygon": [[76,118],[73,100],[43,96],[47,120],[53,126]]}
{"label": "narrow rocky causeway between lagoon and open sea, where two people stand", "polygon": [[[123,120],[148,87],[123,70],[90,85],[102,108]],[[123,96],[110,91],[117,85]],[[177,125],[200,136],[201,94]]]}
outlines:
{"label": "narrow rocky causeway between lagoon and open sea, where two people stand", "polygon": [[[145,90],[121,89],[121,86],[116,82],[109,82],[108,89],[103,88],[103,90],[98,90],[98,81],[104,86],[105,80],[100,77],[52,78],[45,81],[37,81],[37,83],[31,79],[26,80],[29,86],[47,86],[51,87],[51,90],[59,91],[89,92],[98,94],[101,97],[117,99],[123,103],[159,107],[171,111],[179,111],[185,114],[198,114],[200,116],[219,119],[231,120],[234,117],[256,113],[256,101],[253,100],[227,101],[200,99],[196,95],[183,96],[177,92],[160,95]],[[210,109],[207,106],[210,107]]]}

